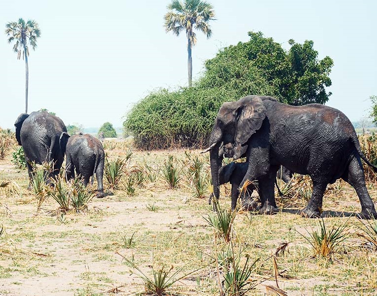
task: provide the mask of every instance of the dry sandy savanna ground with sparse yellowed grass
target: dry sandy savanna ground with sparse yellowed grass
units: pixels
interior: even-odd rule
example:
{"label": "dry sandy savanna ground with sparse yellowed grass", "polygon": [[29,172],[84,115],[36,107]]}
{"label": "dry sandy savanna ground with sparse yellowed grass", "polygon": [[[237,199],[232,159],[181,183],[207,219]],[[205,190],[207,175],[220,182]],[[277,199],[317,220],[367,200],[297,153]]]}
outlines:
{"label": "dry sandy savanna ground with sparse yellowed grass", "polygon": [[[124,157],[128,144],[108,142],[105,149],[115,159]],[[180,170],[176,189],[169,189],[161,173],[169,155]],[[51,198],[37,214],[36,197],[26,189],[27,171],[16,169],[6,156],[0,161],[0,181],[12,183],[0,194],[0,295],[137,295],[145,291],[143,280],[129,261],[151,279],[152,266],[172,267],[171,272],[179,271],[177,277],[194,271],[175,283],[169,295],[220,295],[223,270],[214,258],[227,247],[204,219],[212,213],[208,199],[194,196],[189,177],[194,156],[205,160],[208,172],[208,155],[198,150],[134,150],[120,189],[93,198],[88,210],[78,214],[59,212]],[[132,170],[144,176],[139,176],[140,185],[131,184],[134,195],[127,183]],[[360,211],[355,191],[340,181],[328,186],[324,223],[328,230],[346,223],[347,236],[328,258],[315,257],[304,237],[310,239],[320,220],[296,214],[311,187],[306,179],[295,181],[299,186],[291,188],[291,199],[277,197],[277,215],[236,215],[234,253],[242,251],[242,261],[246,256],[259,259],[249,278],[255,288],[247,295],[265,295],[270,291],[265,286],[276,283],[287,295],[376,295],[377,253],[357,235],[363,224],[351,215]],[[368,189],[376,201],[376,184],[368,183]],[[222,186],[222,208],[230,207],[229,195],[230,186]],[[283,242],[288,243],[285,252],[272,256]]]}

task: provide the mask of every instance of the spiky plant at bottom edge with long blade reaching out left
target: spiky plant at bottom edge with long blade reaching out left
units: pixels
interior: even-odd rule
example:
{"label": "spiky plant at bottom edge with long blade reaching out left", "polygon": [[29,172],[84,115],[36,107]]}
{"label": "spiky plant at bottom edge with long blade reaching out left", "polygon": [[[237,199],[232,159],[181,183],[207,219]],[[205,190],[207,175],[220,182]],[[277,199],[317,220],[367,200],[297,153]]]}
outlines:
{"label": "spiky plant at bottom edge with long blade reaching out left", "polygon": [[167,290],[170,289],[175,283],[180,281],[181,279],[187,277],[188,275],[192,274],[194,271],[188,272],[184,275],[179,276],[178,274],[183,270],[184,266],[178,268],[176,271],[173,272],[174,266],[171,265],[169,269],[164,265],[159,265],[154,267],[153,264],[151,265],[152,269],[152,277],[146,275],[134,262],[133,260],[129,260],[125,258],[123,255],[116,253],[121,256],[127,264],[131,265],[139,272],[140,278],[144,282],[144,287],[146,290],[147,295],[156,295],[156,296],[163,296],[166,295],[168,292]]}

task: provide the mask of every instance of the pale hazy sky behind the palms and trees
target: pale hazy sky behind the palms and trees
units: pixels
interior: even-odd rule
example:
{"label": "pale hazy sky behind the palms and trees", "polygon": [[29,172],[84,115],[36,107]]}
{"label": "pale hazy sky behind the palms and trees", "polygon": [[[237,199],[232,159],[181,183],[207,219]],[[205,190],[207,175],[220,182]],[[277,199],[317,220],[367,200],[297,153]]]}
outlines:
{"label": "pale hazy sky behind the palms and trees", "polygon": [[[151,90],[187,85],[186,37],[165,33],[168,0],[18,0],[0,2],[0,126],[13,127],[25,109],[25,62],[3,33],[22,17],[38,22],[41,37],[29,56],[29,112],[47,108],[68,124],[121,126],[122,116]],[[197,33],[193,78],[225,46],[262,31],[314,41],[334,60],[333,95],[326,104],[352,121],[368,115],[377,95],[377,1],[211,0],[210,39]],[[1,37],[2,36],[2,37]]]}

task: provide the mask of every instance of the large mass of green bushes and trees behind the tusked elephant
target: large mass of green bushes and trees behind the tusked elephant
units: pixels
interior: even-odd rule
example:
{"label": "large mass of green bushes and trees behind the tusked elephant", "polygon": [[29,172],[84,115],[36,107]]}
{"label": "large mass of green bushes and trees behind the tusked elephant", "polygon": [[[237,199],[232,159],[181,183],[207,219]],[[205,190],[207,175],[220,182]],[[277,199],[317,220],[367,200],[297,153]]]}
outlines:
{"label": "large mass of green bushes and trees behind the tusked elephant", "polygon": [[330,57],[318,61],[312,41],[290,40],[287,51],[261,32],[250,40],[219,50],[205,62],[205,71],[190,88],[152,92],[123,123],[138,148],[201,148],[224,102],[249,94],[269,95],[291,105],[324,104],[331,93]]}

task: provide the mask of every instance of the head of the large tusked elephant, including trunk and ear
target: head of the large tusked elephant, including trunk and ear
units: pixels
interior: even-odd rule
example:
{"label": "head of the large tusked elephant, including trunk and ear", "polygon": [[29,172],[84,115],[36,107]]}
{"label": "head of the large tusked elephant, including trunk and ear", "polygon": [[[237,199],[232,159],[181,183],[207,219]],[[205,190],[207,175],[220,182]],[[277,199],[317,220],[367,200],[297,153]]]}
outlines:
{"label": "head of the large tusked elephant, including trunk and ear", "polygon": [[[261,128],[266,116],[263,100],[267,98],[270,97],[247,96],[221,106],[210,136],[210,146],[203,151],[210,151],[213,192],[216,198],[220,196],[219,168],[224,154],[234,159],[246,154],[248,140]],[[219,151],[221,146],[223,151]]]}

